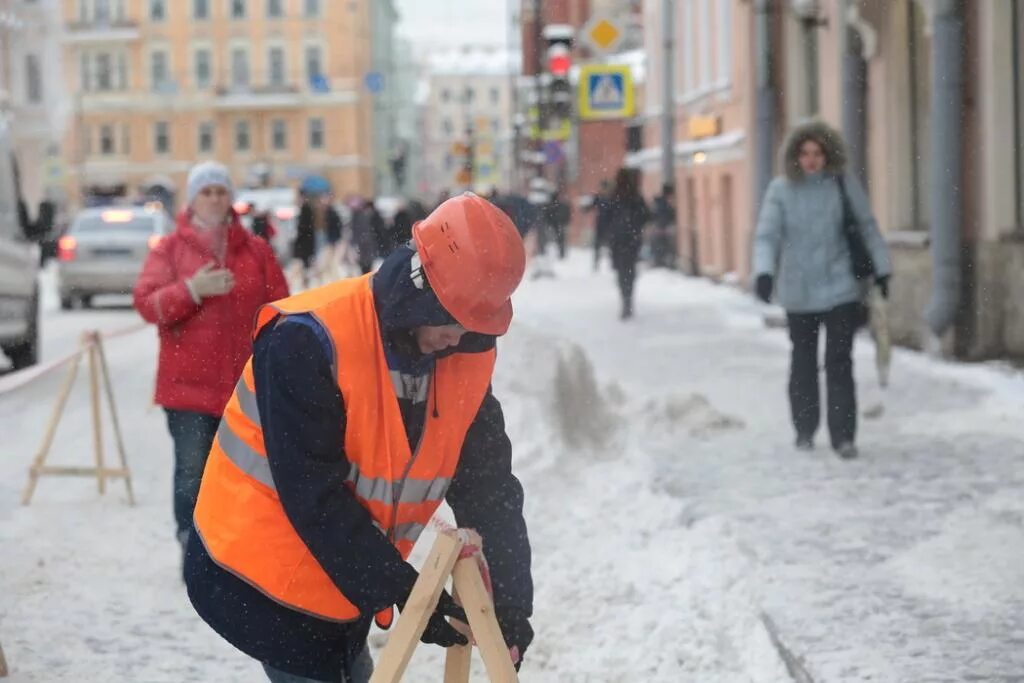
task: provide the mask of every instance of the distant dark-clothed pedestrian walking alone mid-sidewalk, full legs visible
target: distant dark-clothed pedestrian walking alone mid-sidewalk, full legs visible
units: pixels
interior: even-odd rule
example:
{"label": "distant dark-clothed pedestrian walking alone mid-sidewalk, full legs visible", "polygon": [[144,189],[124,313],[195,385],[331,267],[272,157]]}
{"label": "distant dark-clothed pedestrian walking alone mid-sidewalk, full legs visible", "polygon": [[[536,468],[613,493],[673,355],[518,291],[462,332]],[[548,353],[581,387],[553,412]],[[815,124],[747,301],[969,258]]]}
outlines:
{"label": "distant dark-clothed pedestrian walking alone mid-sidewalk, full legs visible", "polygon": [[618,276],[624,321],[633,317],[633,287],[640,260],[643,230],[650,220],[650,210],[640,196],[638,173],[623,168],[615,175],[615,188],[609,207],[609,243],[611,264]]}

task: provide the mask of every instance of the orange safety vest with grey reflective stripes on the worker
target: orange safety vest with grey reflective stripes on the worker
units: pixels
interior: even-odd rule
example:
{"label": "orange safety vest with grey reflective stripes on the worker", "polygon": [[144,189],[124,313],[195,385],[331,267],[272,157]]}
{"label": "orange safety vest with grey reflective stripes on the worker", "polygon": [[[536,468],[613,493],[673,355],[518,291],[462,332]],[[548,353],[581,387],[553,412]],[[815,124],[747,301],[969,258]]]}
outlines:
{"label": "orange safety vest with grey reflective stripes on the worker", "polygon": [[[466,431],[490,384],[496,352],[456,353],[437,360],[423,435],[416,452],[410,451],[384,358],[371,278],[343,280],[268,304],[257,313],[253,336],[279,314],[311,313],[327,330],[345,403],[344,455],[351,464],[345,485],[407,558],[455,476]],[[285,515],[266,458],[254,387],[250,357],[203,473],[196,529],[217,564],[279,603],[325,620],[355,620],[359,610]],[[378,621],[389,623],[390,610],[385,612]]]}

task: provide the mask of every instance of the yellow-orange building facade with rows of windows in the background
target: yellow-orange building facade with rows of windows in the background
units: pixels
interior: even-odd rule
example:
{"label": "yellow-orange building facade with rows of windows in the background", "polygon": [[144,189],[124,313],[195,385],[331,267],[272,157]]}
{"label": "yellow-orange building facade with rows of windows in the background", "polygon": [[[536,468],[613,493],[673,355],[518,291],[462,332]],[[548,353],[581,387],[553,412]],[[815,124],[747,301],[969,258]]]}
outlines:
{"label": "yellow-orange building facade with rows of windows in the background", "polygon": [[193,164],[240,185],[372,190],[370,0],[63,0],[68,197],[184,198]]}

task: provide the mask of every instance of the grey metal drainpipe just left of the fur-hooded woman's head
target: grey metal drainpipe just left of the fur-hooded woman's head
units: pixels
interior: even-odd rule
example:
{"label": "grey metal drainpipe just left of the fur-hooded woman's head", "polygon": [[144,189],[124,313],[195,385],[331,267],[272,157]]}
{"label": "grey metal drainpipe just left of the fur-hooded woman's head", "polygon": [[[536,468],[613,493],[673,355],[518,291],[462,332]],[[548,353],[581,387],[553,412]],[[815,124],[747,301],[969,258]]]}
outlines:
{"label": "grey metal drainpipe just left of the fur-hooded woman's head", "polygon": [[[755,212],[760,210],[765,190],[774,175],[775,87],[772,78],[772,2],[755,0],[754,50],[757,65],[757,178]],[[755,215],[756,219],[756,215]]]}

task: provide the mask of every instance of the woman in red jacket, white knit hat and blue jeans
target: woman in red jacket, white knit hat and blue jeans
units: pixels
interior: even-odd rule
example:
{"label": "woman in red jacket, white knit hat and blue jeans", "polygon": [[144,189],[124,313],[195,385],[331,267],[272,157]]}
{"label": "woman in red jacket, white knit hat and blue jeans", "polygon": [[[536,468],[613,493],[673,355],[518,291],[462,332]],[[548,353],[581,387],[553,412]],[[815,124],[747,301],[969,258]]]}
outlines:
{"label": "woman in red jacket, white knit hat and blue jeans", "polygon": [[252,352],[256,311],[288,296],[270,247],[231,208],[227,169],[188,174],[188,208],[146,259],[135,308],[160,330],[156,402],[174,440],[174,518],[184,548],[206,457],[224,405]]}

